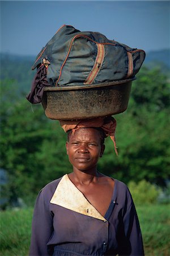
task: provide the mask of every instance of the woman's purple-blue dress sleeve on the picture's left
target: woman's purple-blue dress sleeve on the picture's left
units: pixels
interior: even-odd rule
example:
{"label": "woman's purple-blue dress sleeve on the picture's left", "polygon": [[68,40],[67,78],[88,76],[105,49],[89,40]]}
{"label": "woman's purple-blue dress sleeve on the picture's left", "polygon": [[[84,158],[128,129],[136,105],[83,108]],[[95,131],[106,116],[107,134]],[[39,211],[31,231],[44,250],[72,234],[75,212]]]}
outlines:
{"label": "woman's purple-blue dress sleeve on the picture's left", "polygon": [[37,196],[32,219],[32,236],[29,256],[50,255],[47,243],[53,234],[53,214],[43,189]]}

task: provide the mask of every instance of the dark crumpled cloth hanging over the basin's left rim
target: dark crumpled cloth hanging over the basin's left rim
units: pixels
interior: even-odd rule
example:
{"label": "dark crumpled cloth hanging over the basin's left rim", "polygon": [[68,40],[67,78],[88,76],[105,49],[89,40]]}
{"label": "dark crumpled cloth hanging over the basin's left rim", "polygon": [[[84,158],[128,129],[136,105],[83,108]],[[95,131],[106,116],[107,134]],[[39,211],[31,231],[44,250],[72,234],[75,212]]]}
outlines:
{"label": "dark crumpled cloth hanging over the basin's left rim", "polygon": [[37,68],[36,75],[32,81],[31,92],[26,96],[27,100],[32,104],[37,104],[42,101],[44,87],[50,86],[46,79],[46,67],[41,65]]}

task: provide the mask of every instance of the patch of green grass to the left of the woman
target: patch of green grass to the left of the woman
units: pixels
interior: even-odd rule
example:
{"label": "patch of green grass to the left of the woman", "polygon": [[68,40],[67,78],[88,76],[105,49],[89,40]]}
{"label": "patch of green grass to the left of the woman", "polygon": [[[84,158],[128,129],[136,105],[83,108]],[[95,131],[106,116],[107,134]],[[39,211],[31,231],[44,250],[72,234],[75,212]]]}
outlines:
{"label": "patch of green grass to the left of the woman", "polygon": [[32,209],[1,212],[1,255],[26,256],[31,238]]}

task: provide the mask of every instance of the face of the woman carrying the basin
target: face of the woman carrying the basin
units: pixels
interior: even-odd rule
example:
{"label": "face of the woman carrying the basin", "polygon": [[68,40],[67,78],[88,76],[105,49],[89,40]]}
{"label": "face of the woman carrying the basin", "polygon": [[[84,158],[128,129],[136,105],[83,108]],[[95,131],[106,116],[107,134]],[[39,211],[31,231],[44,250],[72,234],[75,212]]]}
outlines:
{"label": "face of the woman carrying the basin", "polygon": [[70,136],[66,142],[67,155],[73,170],[96,170],[99,157],[103,155],[104,145],[100,142],[100,132],[93,128],[82,128]]}

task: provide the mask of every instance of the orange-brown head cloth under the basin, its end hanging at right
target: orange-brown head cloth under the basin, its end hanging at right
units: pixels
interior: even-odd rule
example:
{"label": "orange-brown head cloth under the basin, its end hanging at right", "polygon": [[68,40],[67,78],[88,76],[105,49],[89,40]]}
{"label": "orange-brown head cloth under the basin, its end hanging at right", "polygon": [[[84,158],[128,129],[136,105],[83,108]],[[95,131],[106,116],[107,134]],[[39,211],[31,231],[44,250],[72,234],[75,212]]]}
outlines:
{"label": "orange-brown head cloth under the basin, its end hanging at right", "polygon": [[82,119],[82,120],[59,120],[60,125],[63,130],[67,133],[67,131],[72,130],[72,134],[74,135],[75,131],[80,128],[90,128],[90,127],[100,127],[103,129],[105,133],[105,137],[110,136],[114,143],[114,151],[116,155],[118,155],[117,147],[116,147],[116,139],[114,137],[114,133],[116,130],[116,119],[113,117],[100,117],[93,119]]}

